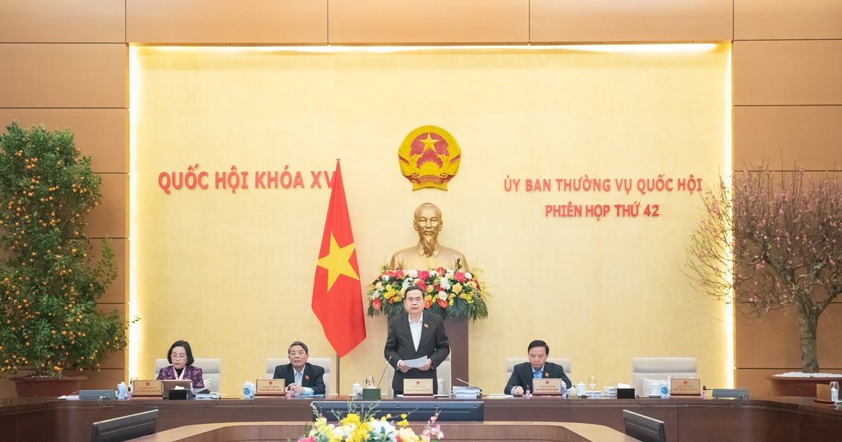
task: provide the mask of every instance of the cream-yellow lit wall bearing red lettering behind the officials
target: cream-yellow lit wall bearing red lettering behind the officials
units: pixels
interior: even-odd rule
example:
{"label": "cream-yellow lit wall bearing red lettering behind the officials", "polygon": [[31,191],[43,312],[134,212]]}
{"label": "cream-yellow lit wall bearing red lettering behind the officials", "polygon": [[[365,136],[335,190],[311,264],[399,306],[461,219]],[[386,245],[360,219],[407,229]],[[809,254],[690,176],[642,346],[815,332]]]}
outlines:
{"label": "cream-yellow lit wall bearing red lettering behind the officials", "polygon": [[[470,324],[485,391],[534,338],[573,359],[573,381],[630,382],[632,357],[689,355],[706,384],[730,385],[731,313],[682,274],[697,184],[730,167],[729,51],[131,48],[131,375],[179,338],[222,359],[228,395],[294,340],[335,359],[310,304],[341,157],[364,292],[417,240],[415,207],[440,206],[440,241],[493,295]],[[447,191],[413,191],[398,168],[422,125],[461,147]],[[189,172],[207,189],[162,178]],[[268,184],[284,173],[293,185]],[[365,325],[338,392],[383,371],[386,319]]]}

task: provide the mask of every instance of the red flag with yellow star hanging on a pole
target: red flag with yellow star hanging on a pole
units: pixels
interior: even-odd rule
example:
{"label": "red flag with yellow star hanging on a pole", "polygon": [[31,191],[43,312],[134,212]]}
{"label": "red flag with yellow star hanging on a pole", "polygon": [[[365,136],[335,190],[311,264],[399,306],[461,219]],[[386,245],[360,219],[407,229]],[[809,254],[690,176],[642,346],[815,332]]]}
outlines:
{"label": "red flag with yellow star hanging on a pole", "polygon": [[360,266],[338,160],[313,281],[312,309],[340,358],[365,339]]}

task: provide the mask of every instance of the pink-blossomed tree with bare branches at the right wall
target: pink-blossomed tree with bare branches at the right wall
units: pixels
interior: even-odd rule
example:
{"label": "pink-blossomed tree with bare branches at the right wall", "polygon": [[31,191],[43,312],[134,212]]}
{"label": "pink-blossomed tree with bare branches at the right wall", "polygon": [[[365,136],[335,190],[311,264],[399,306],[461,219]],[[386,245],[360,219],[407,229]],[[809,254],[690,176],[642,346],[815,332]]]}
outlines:
{"label": "pink-blossomed tree with bare branches at the right wall", "polygon": [[[731,185],[720,178],[702,201],[704,216],[686,248],[693,285],[742,317],[795,307],[802,372],[817,374],[818,318],[842,293],[842,183],[759,165],[735,174]],[[815,387],[809,392],[815,396]]]}

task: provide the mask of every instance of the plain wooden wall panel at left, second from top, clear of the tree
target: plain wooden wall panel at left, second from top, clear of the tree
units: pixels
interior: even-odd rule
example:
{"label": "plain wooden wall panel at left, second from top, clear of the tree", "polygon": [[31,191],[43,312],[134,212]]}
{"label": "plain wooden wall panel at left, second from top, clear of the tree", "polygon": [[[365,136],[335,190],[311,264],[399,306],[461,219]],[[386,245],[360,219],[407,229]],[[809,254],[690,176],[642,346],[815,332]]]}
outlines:
{"label": "plain wooden wall panel at left, second from top, clear of the tree", "polygon": [[0,44],[0,108],[125,108],[125,44]]}

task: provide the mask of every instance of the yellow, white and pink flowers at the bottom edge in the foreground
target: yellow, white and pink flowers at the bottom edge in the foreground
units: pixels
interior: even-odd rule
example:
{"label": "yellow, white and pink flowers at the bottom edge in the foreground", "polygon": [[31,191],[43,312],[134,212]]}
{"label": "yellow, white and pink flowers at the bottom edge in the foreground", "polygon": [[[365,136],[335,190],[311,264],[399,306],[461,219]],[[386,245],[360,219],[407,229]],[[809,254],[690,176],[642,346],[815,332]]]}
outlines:
{"label": "yellow, white and pink flowers at the bottom edge in the foreground", "polygon": [[310,432],[299,438],[298,442],[373,442],[379,440],[429,442],[445,437],[440,425],[435,423],[436,419],[439,418],[439,413],[435,413],[433,417],[429,418],[421,434],[415,434],[413,429],[409,428],[406,414],[401,414],[401,420],[397,423],[389,420],[392,418],[391,414],[386,414],[380,419],[374,418],[373,412],[376,405],[371,405],[370,408],[357,412],[353,402],[349,402],[349,413],[340,419],[337,424],[328,423],[328,418],[318,413],[315,405],[312,405],[312,407],[316,421],[313,423]]}

